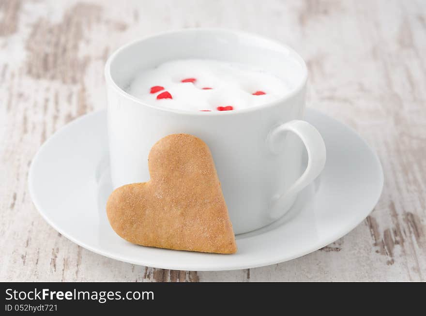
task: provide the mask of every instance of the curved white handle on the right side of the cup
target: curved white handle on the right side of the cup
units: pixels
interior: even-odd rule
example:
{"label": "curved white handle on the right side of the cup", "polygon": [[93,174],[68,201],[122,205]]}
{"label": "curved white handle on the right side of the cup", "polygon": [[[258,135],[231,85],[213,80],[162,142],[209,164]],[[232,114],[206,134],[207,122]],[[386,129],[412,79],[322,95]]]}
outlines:
{"label": "curved white handle on the right side of the cup", "polygon": [[[286,132],[293,132],[302,139],[306,147],[308,163],[302,176],[300,176],[286,192],[274,196],[271,210],[276,210],[277,216],[271,214],[273,217],[279,217],[279,215],[282,214],[279,213],[279,210],[289,208],[289,203],[292,202],[291,197],[295,196],[296,193],[314,181],[320,175],[325,165],[326,150],[324,140],[320,132],[304,120],[291,120],[275,127],[268,137],[272,151],[276,151],[276,147],[278,146],[278,144],[276,144],[277,136]],[[278,208],[279,210],[277,210]]]}

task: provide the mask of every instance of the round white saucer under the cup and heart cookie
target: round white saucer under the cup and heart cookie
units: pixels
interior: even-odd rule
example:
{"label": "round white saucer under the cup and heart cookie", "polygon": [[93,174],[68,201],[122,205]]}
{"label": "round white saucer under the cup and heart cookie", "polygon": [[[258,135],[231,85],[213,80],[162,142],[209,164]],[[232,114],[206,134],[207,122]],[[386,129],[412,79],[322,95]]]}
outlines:
{"label": "round white saucer under the cup and heart cookie", "polygon": [[105,211],[112,191],[105,110],[71,122],[40,148],[30,167],[31,198],[47,223],[71,241],[137,265],[217,271],[287,261],[347,234],[373,210],[383,187],[379,159],[359,135],[312,109],[306,110],[305,120],[324,138],[324,171],[283,218],[237,235],[234,255],[137,246],[115,234]]}

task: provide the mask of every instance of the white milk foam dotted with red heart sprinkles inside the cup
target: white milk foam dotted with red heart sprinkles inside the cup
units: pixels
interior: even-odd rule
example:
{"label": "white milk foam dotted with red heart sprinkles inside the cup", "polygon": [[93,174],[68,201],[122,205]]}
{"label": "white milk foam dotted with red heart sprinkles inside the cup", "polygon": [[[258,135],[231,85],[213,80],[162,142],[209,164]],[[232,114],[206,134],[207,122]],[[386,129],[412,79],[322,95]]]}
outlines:
{"label": "white milk foam dotted with red heart sprinkles inside the cup", "polygon": [[[196,80],[182,82],[190,78]],[[154,86],[164,87],[164,90],[150,93]],[[283,78],[250,65],[189,59],[167,61],[139,72],[126,92],[150,105],[217,111],[218,107],[229,105],[233,110],[262,105],[283,97],[290,89]],[[157,99],[165,91],[172,98]],[[258,95],[253,95],[256,92]]]}

